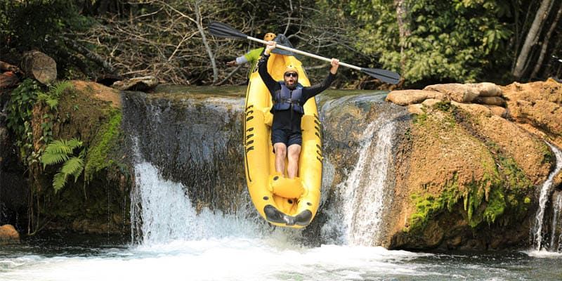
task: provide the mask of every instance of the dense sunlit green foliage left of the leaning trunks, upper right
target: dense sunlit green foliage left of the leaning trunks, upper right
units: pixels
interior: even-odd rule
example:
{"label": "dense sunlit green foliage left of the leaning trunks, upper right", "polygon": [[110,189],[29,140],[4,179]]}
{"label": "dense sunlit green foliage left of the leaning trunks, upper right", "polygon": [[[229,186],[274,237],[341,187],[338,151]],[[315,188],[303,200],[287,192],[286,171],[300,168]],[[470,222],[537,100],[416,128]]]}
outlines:
{"label": "dense sunlit green foliage left of the leaning trunks, upper right", "polygon": [[395,1],[348,2],[347,13],[363,27],[355,33],[361,38],[358,48],[377,55],[389,70],[400,71],[403,64],[408,84],[427,79],[472,82],[492,67],[509,67],[505,54],[513,32],[500,20],[509,16],[509,1],[405,0],[403,38]]}

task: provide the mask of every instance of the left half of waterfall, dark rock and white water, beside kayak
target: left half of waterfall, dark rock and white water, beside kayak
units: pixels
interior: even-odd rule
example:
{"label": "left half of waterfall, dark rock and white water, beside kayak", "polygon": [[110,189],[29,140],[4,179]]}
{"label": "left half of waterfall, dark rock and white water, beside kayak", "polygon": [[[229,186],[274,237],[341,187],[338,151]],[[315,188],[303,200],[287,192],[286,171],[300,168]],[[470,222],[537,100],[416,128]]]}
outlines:
{"label": "left half of waterfall, dark rock and white water, beside kayak", "polygon": [[270,228],[251,203],[242,165],[242,99],[125,95],[134,243],[301,239],[300,232]]}

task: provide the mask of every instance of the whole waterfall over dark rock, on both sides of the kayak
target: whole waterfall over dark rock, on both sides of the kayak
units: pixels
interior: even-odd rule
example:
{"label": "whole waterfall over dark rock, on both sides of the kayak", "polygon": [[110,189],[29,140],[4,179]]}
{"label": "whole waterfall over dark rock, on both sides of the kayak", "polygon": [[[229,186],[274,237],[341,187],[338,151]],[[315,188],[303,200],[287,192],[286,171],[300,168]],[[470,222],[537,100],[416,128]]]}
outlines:
{"label": "whole waterfall over dark rock, on both sides of the kayak", "polygon": [[[325,122],[332,122],[340,141],[353,143],[346,149],[356,152],[358,161],[348,158],[346,163],[353,166],[344,168],[341,162],[325,159],[324,176],[337,174],[343,182],[323,185],[319,219],[294,230],[268,226],[251,203],[240,142],[243,100],[194,97],[125,93],[124,131],[135,163],[130,213],[134,242],[273,235],[293,244],[381,244],[392,199],[388,190],[393,190],[393,181],[387,181],[387,174],[393,169],[393,140],[398,124],[409,116],[403,107],[384,103],[381,94],[330,98],[325,103],[322,112],[334,114]],[[341,111],[343,107],[351,111]],[[354,126],[353,133],[349,128],[341,131],[342,116],[360,126]],[[373,121],[365,122],[365,117]],[[330,153],[329,148],[325,151]],[[337,153],[336,159],[349,155]],[[323,179],[323,184],[330,182]],[[339,192],[330,195],[330,190]]]}

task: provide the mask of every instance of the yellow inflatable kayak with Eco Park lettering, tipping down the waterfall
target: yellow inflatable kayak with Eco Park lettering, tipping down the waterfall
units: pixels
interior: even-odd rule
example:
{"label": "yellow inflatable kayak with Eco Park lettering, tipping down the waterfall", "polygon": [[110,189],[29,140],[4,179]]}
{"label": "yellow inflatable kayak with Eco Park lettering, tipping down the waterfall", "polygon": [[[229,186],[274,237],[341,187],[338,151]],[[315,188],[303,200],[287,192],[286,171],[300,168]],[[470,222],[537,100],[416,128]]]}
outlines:
{"label": "yellow inflatable kayak with Eco Park lettering, tipping down the waterfall", "polygon": [[[302,86],[310,86],[301,62],[294,56],[272,53],[268,71],[273,79],[282,81],[287,65],[296,66]],[[299,177],[289,179],[275,174],[275,154],[270,138],[273,115],[269,111],[272,105],[270,92],[259,76],[258,67],[254,66],[246,91],[244,120],[244,159],[249,194],[266,221],[275,226],[303,228],[311,223],[320,204],[322,142],[318,109],[314,98],[304,105]]]}

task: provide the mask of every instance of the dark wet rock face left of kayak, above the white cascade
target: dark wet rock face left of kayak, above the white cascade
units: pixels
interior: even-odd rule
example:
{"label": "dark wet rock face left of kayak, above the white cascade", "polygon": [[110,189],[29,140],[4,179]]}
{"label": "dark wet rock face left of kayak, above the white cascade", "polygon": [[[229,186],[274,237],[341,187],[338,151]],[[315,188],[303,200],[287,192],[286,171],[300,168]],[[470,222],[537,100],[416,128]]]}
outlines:
{"label": "dark wet rock face left of kayak, above the white cascade", "polygon": [[233,211],[245,188],[244,99],[207,93],[127,92],[131,153],[182,183],[194,206]]}

